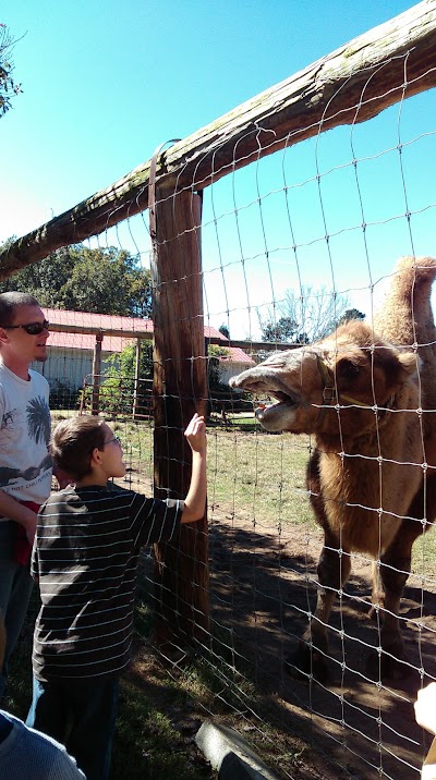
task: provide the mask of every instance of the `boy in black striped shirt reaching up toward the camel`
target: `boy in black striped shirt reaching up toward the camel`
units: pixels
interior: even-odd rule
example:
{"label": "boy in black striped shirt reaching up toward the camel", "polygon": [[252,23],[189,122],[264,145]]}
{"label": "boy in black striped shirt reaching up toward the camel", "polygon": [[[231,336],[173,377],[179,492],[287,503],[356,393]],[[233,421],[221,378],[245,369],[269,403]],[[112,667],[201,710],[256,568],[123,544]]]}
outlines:
{"label": "boy in black striped shirt reaching up toward the camel", "polygon": [[179,523],[205,512],[204,417],[195,414],[185,436],[192,449],[186,499],[160,501],[108,486],[125,465],[121,442],[98,417],[63,421],[53,434],[53,462],[75,486],[50,496],[38,514],[32,571],[41,608],[27,726],[62,742],[87,780],[109,776],[140,549],[170,539]]}

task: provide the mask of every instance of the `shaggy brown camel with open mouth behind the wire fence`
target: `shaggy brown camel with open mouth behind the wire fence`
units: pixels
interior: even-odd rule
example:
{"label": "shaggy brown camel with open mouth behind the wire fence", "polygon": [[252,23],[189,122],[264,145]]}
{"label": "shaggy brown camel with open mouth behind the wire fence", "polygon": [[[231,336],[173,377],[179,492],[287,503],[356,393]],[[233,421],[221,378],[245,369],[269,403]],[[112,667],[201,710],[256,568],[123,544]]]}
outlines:
{"label": "shaggy brown camel with open mouth behind the wire fence", "polygon": [[436,259],[402,258],[373,325],[348,321],[230,380],[276,399],[256,411],[266,430],[315,439],[306,485],[324,547],[316,610],[293,662],[318,680],[328,678],[328,621],[353,552],[374,561],[380,675],[408,673],[400,599],[412,545],[436,517],[435,277]]}

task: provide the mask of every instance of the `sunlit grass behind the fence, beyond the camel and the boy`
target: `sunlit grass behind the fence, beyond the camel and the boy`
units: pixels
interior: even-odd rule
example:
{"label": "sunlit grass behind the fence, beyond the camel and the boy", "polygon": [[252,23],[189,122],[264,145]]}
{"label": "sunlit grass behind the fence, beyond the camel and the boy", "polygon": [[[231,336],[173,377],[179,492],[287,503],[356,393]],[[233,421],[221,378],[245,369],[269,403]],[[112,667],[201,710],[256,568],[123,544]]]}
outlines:
{"label": "sunlit grass behind the fence, beyond the camel and the boy", "polygon": [[[230,417],[230,415],[229,415]],[[246,425],[246,427],[245,427]],[[150,423],[114,424],[125,442],[129,474],[141,489],[153,490],[153,428]],[[305,468],[314,440],[307,436],[266,434],[253,415],[232,415],[230,425],[217,418],[208,426],[207,482],[210,513],[259,522],[274,532],[304,524],[315,527],[305,490]],[[431,529],[413,547],[412,572],[436,578],[436,532]]]}

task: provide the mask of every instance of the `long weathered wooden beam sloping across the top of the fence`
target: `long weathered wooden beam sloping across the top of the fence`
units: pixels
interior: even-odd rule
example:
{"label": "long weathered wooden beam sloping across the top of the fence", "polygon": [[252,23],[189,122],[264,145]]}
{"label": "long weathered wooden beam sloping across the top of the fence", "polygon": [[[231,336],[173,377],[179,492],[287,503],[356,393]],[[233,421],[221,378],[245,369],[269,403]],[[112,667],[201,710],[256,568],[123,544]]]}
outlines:
{"label": "long weathered wooden beam sloping across the top of the fence", "polygon": [[[436,86],[435,51],[436,0],[424,0],[174,144],[158,160],[157,184],[168,197],[202,190],[259,157],[372,119]],[[147,160],[0,251],[0,279],[146,209],[149,169]]]}

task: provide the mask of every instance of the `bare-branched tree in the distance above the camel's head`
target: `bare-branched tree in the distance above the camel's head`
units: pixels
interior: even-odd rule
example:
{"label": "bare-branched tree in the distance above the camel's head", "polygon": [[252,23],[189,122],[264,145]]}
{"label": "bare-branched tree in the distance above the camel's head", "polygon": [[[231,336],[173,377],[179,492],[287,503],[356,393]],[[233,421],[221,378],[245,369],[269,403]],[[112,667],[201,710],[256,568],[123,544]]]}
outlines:
{"label": "bare-branched tree in the distance above the camel's head", "polygon": [[271,313],[265,320],[259,312],[257,316],[265,341],[308,344],[335,330],[347,306],[344,295],[331,293],[325,287],[314,290],[312,285],[304,285],[301,295],[292,290],[284,292],[283,301],[277,306],[279,318]]}

